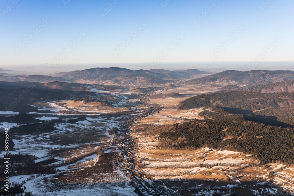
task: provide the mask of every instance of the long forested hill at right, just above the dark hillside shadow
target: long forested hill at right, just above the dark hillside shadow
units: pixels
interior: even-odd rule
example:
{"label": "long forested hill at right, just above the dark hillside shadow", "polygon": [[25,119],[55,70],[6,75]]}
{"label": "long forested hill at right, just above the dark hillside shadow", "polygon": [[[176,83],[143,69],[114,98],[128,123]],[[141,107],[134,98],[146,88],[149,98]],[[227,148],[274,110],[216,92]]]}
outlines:
{"label": "long forested hill at right, just above the dark hillside shadow", "polygon": [[183,100],[179,109],[192,109],[206,106],[240,108],[243,110],[262,110],[294,104],[294,92],[259,93],[250,91],[230,91],[211,93]]}

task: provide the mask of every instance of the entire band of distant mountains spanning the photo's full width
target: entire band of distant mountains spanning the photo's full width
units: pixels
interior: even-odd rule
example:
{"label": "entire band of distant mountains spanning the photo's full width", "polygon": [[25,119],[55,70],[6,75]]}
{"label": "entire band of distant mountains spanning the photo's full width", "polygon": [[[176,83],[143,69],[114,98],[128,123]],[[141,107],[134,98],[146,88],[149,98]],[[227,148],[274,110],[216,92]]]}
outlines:
{"label": "entire band of distant mountains spanning the photo's full width", "polygon": [[[204,77],[201,77],[204,76]],[[196,78],[198,77],[198,78]],[[196,79],[191,79],[196,78]],[[190,80],[189,80],[190,79]],[[6,82],[38,82],[38,83],[84,83],[84,84],[103,84],[126,85],[126,84],[162,84],[178,80],[186,80],[187,85],[225,85],[224,91],[235,88],[251,87],[256,85],[268,85],[251,88],[250,91],[258,92],[283,92],[287,91],[286,86],[292,86],[285,81],[294,80],[294,71],[235,71],[228,70],[209,75],[209,72],[197,69],[169,71],[164,69],[151,70],[130,70],[126,68],[91,68],[81,71],[60,72],[50,76],[29,75],[29,76],[4,76],[0,73],[0,81]],[[282,83],[277,83],[282,82]],[[276,86],[273,86],[273,83]],[[228,86],[229,85],[229,86]],[[233,86],[232,86],[233,85]],[[234,86],[238,85],[238,86]],[[280,87],[281,86],[281,87]],[[284,87],[283,87],[284,86]],[[289,89],[292,87],[289,87]],[[288,90],[289,90],[288,89]]]}

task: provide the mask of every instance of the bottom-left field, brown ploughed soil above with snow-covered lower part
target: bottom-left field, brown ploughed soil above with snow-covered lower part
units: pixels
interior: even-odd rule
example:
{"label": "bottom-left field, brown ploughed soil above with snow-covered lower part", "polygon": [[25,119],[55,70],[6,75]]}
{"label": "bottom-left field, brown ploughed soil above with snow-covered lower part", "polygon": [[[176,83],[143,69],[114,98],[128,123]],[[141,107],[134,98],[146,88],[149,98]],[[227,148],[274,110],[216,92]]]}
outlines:
{"label": "bottom-left field, brown ploughed soil above with snow-covered lower part", "polygon": [[[33,195],[38,196],[136,195],[133,192],[134,188],[128,184],[129,179],[123,177],[118,169],[115,156],[99,165],[88,164],[82,168],[74,168],[74,165],[84,165],[84,163],[97,162],[97,160],[97,155],[91,155],[74,164],[58,167],[59,172],[56,174],[29,180],[23,186],[26,186],[26,191],[31,191]],[[64,174],[64,171],[67,173]]]}

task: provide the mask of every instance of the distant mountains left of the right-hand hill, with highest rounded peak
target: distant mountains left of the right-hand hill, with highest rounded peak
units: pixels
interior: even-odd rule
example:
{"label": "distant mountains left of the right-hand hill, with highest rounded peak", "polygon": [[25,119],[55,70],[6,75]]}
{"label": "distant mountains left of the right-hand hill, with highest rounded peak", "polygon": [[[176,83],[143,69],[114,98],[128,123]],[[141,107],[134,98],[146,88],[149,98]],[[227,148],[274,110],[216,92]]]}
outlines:
{"label": "distant mountains left of the right-hand hill, with highest rounded peak", "polygon": [[185,71],[168,71],[162,69],[151,70],[130,70],[126,68],[91,68],[81,71],[60,72],[50,76],[30,75],[30,76],[4,76],[0,74],[0,81],[18,82],[40,82],[48,83],[76,82],[76,83],[96,83],[96,84],[124,84],[124,83],[168,83],[180,79],[193,78],[193,76],[207,74],[208,72],[190,69]]}

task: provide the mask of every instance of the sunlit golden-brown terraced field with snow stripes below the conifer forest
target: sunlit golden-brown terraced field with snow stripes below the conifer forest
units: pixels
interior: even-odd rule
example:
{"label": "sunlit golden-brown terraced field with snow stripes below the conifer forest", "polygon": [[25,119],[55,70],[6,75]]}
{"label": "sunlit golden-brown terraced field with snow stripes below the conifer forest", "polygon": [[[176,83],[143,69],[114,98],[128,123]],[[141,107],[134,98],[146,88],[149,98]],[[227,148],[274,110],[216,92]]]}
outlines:
{"label": "sunlit golden-brown terraced field with snow stripes below the conifer forest", "polygon": [[[251,155],[228,150],[157,149],[157,135],[146,136],[133,132],[132,136],[138,141],[137,167],[153,180],[272,180],[284,189],[294,190],[294,168],[274,163],[260,166]],[[274,172],[273,177],[269,177],[270,172]]]}

